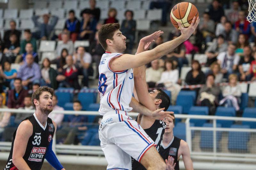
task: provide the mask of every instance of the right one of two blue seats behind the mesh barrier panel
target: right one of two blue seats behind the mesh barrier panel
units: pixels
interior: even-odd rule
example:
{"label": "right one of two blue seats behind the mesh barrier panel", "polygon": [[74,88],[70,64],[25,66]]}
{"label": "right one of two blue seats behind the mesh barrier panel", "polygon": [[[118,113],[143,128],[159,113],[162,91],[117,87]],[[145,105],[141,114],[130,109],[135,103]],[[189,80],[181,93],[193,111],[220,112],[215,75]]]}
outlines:
{"label": "right one of two blue seats behind the mesh barrier panel", "polygon": [[[250,128],[249,125],[232,125],[231,128]],[[247,143],[250,139],[249,132],[228,132],[228,150],[248,151]]]}

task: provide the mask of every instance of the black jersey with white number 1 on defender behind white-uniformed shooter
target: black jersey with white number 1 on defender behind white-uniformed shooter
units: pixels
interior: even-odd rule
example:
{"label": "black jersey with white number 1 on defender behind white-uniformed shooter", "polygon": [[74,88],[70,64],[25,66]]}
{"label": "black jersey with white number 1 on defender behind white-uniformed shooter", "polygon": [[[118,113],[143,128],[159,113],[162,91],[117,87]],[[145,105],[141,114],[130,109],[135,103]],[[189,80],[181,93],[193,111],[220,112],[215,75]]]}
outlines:
{"label": "black jersey with white number 1 on defender behind white-uniformed shooter", "polygon": [[[136,118],[137,121],[138,117]],[[164,121],[156,120],[153,125],[148,128],[144,129],[144,131],[148,134],[148,136],[155,141],[156,143],[156,150],[159,152],[161,142],[163,140],[164,130],[166,128],[166,124]],[[146,168],[140,164],[137,160],[133,159],[132,161],[132,169],[133,170],[146,170]]]}

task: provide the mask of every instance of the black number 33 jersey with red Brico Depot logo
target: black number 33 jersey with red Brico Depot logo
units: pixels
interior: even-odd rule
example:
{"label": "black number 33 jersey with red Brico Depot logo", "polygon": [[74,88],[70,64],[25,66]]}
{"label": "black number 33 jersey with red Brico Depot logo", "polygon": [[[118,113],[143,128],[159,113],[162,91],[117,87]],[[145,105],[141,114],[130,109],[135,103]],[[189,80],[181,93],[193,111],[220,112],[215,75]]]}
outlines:
{"label": "black number 33 jersey with red Brico Depot logo", "polygon": [[[32,136],[29,137],[28,139],[28,144],[23,159],[26,161],[30,169],[38,170],[41,169],[43,165],[45,153],[52,140],[54,134],[54,125],[52,123],[52,119],[48,117],[46,124],[43,127],[43,125],[36,118],[35,113],[24,120],[27,119],[33,125],[33,133]],[[16,131],[17,129],[13,133],[12,148],[4,170],[17,169],[15,165],[12,163],[13,143],[15,140]]]}

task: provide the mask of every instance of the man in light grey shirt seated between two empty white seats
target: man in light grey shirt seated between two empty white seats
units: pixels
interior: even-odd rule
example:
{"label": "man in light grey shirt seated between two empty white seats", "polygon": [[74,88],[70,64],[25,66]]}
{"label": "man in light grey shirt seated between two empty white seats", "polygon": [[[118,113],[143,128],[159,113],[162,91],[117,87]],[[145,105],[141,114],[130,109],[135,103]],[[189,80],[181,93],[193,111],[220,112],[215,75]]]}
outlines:
{"label": "man in light grey shirt seated between two empty white seats", "polygon": [[56,48],[57,56],[61,55],[61,51],[63,48],[66,48],[68,50],[69,55],[73,55],[74,52],[74,45],[72,41],[69,41],[69,34],[66,32],[63,32],[61,34],[62,41],[58,43]]}

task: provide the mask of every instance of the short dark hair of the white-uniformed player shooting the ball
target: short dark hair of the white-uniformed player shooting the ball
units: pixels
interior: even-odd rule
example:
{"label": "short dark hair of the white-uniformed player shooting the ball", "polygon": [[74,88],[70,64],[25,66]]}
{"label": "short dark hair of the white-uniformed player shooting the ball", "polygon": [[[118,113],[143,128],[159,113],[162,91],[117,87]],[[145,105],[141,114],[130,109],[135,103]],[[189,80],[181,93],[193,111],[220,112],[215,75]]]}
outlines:
{"label": "short dark hair of the white-uniformed player shooting the ball", "polygon": [[107,48],[107,39],[113,40],[113,36],[116,30],[120,28],[120,24],[104,24],[101,26],[98,34],[99,34],[99,42],[100,45],[106,50]]}

